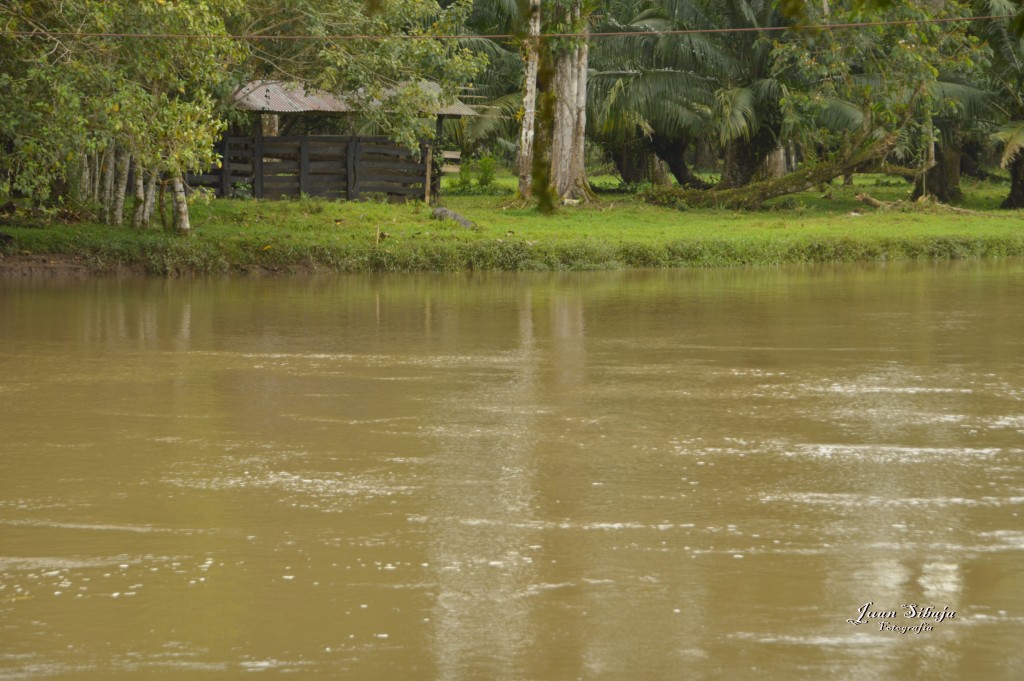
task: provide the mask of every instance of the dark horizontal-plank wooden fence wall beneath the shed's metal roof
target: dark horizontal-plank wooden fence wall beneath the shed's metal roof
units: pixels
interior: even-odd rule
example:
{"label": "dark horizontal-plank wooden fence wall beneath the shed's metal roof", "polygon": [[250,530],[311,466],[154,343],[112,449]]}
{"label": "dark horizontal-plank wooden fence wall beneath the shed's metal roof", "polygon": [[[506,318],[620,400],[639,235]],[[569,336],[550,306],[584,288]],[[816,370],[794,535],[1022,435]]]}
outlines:
{"label": "dark horizontal-plank wooden fence wall beneath the shed's metal roof", "polygon": [[189,185],[218,197],[248,193],[257,199],[425,196],[426,155],[386,137],[225,137],[219,152],[221,168],[190,175]]}

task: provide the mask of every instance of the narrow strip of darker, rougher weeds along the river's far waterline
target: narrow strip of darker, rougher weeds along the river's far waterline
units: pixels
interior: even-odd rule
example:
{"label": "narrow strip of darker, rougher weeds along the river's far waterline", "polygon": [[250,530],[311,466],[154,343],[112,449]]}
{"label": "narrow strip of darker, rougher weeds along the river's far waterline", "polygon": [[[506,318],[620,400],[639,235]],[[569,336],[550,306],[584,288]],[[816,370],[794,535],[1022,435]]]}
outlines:
{"label": "narrow strip of darker, rougher weeds along the river's far waterline", "polygon": [[0,251],[0,275],[7,279],[571,271],[1024,257],[1024,229],[1011,236],[766,237],[741,242],[710,238],[659,244],[585,238],[557,243],[496,239],[415,245],[297,244],[287,250],[246,243],[224,248],[202,240],[169,239],[90,245],[70,253],[7,251]]}

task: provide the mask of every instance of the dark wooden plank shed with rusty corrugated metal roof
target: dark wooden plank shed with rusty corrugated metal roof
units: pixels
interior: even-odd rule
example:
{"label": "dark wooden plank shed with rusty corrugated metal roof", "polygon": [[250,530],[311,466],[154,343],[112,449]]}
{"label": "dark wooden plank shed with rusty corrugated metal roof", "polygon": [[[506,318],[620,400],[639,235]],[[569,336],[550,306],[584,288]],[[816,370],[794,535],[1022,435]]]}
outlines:
{"label": "dark wooden plank shed with rusty corrugated metal roof", "polygon": [[[433,83],[421,87],[440,92]],[[233,99],[238,110],[252,114],[252,134],[225,135],[219,150],[221,167],[189,176],[194,187],[210,187],[219,197],[234,196],[245,186],[257,199],[305,195],[349,201],[370,194],[429,201],[436,190],[433,150],[426,143],[412,151],[386,137],[264,134],[264,114],[355,114],[344,97],[281,81],[253,81],[239,88]],[[438,131],[444,118],[476,115],[461,101],[431,114],[437,117]]]}

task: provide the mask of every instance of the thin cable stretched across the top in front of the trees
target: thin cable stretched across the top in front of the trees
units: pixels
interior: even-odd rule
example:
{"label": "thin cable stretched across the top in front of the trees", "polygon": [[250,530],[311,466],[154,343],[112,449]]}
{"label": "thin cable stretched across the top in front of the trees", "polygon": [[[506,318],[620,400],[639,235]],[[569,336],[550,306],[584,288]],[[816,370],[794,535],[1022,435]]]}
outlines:
{"label": "thin cable stretched across the top in front of the trees", "polygon": [[[847,24],[815,24],[808,26],[767,26],[767,27],[739,27],[731,29],[679,29],[674,31],[605,31],[595,33],[545,33],[537,38],[625,38],[640,36],[688,36],[707,34],[729,34],[729,33],[760,33],[782,31],[847,31],[852,29],[870,29],[887,26],[915,26],[927,24],[956,24],[974,22],[1007,20],[1013,18],[1012,14],[997,14],[990,16],[959,16],[959,17],[932,17],[921,19],[894,19],[884,22],[853,22]],[[191,34],[191,33],[84,33],[75,31],[4,31],[0,33],[4,38],[131,38],[145,40],[237,40],[237,41],[262,41],[262,40],[462,40],[473,38],[478,40],[514,40],[522,39],[524,35],[516,34],[494,34],[494,35],[214,35],[214,34]]]}

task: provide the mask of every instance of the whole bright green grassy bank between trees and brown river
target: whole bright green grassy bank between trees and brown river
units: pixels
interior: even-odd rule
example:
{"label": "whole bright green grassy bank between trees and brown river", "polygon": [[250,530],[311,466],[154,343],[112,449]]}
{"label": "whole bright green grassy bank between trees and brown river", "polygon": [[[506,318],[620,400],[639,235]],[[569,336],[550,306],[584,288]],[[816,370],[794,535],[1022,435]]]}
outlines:
{"label": "whole bright green grassy bank between trees and brown river", "polygon": [[[435,220],[422,204],[231,200],[193,206],[193,233],[23,218],[0,225],[7,265],[73,258],[91,271],[150,274],[245,271],[453,271],[710,267],[1024,256],[1024,212],[995,209],[998,185],[967,187],[969,212],[878,210],[906,187],[870,177],[831,197],[808,193],[762,212],[679,211],[603,194],[553,216],[510,198],[454,197],[444,205],[477,224]],[[873,183],[872,183],[873,182]]]}

